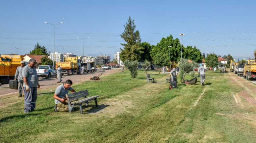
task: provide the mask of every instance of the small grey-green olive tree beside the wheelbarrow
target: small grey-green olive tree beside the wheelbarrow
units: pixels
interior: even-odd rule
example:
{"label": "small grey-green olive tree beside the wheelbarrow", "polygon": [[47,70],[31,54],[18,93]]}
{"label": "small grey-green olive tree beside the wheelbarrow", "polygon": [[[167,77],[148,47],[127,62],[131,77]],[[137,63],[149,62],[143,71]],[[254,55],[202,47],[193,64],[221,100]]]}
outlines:
{"label": "small grey-green olive tree beside the wheelbarrow", "polygon": [[197,63],[192,60],[191,62],[189,62],[188,59],[179,60],[179,67],[180,67],[179,77],[180,77],[181,83],[184,81],[186,74],[189,74],[191,71],[195,70],[195,64]]}

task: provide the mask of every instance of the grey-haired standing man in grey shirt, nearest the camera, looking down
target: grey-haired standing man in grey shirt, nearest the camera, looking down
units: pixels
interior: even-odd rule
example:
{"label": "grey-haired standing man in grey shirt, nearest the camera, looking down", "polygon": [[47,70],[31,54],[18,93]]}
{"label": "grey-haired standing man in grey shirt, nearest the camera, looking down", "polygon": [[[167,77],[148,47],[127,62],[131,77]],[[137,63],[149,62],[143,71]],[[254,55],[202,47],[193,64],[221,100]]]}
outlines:
{"label": "grey-haired standing man in grey shirt, nearest the camera, looking down", "polygon": [[[38,76],[35,70],[35,59],[30,59],[28,65],[22,69],[22,76],[24,80],[24,94],[25,94],[25,109],[24,113],[35,110],[35,101],[37,99],[37,88],[40,88],[38,83]],[[37,88],[36,88],[37,87]]]}

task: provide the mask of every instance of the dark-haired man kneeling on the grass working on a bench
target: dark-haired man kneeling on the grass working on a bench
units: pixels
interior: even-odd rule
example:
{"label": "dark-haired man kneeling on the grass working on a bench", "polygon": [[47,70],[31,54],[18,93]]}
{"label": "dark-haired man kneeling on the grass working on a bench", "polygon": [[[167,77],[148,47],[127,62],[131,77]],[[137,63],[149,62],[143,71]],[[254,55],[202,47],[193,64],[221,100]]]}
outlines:
{"label": "dark-haired man kneeling on the grass working on a bench", "polygon": [[[69,93],[69,91],[71,91],[71,93],[76,92],[71,85],[73,84],[73,82],[71,80],[67,80],[64,84],[61,84],[60,86],[58,86],[55,90],[55,93],[53,95],[53,98],[55,99],[55,104],[57,106],[54,106],[54,111],[58,112],[58,111],[69,111],[69,104],[66,103],[67,99],[63,99],[66,98],[66,94]],[[77,101],[78,99],[72,100],[73,101]]]}

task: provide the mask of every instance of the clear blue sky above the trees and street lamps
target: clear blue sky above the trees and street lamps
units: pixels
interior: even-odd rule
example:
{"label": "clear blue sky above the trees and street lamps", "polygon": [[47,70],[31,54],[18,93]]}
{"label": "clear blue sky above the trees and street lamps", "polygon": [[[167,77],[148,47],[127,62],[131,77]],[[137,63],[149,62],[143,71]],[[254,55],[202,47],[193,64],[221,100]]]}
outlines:
{"label": "clear blue sky above the trees and street lamps", "polygon": [[[231,54],[236,59],[253,56],[256,49],[255,1],[1,1],[0,53],[27,54],[38,42],[55,51],[82,55],[111,55],[120,51],[123,25],[130,16],[142,42],[155,45],[170,34],[183,37],[183,45],[196,46],[202,53]],[[63,19],[64,18],[64,19]]]}

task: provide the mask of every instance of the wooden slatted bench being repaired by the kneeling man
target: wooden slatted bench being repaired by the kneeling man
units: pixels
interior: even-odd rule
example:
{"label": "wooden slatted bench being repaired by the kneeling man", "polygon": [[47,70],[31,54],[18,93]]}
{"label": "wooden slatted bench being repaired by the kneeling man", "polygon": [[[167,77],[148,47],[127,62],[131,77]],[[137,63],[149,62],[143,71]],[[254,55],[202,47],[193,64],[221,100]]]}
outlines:
{"label": "wooden slatted bench being repaired by the kneeling man", "polygon": [[[90,100],[94,100],[95,104],[96,104],[96,107],[98,107],[97,98],[99,96],[87,97],[88,95],[89,95],[89,93],[88,93],[87,89],[83,90],[83,91],[79,91],[79,92],[66,94],[68,104],[69,104],[69,113],[72,111],[72,108],[74,106],[78,105],[79,108],[80,108],[80,113],[82,114],[83,113],[82,103],[85,103],[85,107],[86,107]],[[77,100],[77,101],[70,102],[71,100],[78,99],[78,98],[81,98],[81,97],[84,97],[84,98],[80,99],[80,100]]]}

